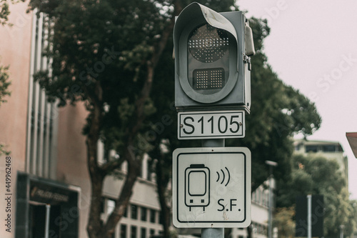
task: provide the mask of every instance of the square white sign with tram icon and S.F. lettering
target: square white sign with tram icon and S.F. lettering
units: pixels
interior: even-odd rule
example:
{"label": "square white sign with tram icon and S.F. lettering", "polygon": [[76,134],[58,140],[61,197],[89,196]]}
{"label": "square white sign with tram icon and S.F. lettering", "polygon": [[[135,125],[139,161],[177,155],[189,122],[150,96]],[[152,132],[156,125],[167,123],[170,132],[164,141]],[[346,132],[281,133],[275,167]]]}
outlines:
{"label": "square white sign with tram icon and S.F. lettering", "polygon": [[176,149],[172,197],[175,227],[248,227],[251,152],[246,147]]}

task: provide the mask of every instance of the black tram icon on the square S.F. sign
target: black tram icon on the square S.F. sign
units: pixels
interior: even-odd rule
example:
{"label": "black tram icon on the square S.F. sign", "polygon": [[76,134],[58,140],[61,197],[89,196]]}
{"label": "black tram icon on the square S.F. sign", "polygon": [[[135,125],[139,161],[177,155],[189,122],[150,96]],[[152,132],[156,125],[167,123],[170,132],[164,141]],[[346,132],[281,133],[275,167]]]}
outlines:
{"label": "black tram icon on the square S.F. sign", "polygon": [[209,204],[210,173],[204,164],[191,164],[185,169],[185,204],[189,207],[205,207]]}

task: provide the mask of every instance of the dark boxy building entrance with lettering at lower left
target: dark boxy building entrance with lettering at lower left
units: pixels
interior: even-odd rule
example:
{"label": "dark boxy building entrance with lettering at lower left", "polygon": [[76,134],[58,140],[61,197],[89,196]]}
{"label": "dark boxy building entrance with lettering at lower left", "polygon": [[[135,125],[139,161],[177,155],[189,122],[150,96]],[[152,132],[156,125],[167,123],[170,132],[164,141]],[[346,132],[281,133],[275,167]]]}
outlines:
{"label": "dark boxy building entrance with lettering at lower left", "polygon": [[79,196],[79,187],[19,172],[15,237],[79,237]]}

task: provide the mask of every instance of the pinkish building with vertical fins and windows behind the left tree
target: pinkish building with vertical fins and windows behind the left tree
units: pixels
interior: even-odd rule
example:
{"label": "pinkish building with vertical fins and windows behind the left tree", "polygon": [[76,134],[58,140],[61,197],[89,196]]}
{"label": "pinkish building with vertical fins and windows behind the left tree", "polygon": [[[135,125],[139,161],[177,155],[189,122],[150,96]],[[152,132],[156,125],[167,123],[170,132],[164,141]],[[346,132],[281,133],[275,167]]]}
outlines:
{"label": "pinkish building with vertical fins and windows behind the left tree", "polygon": [[[88,237],[90,180],[81,134],[87,112],[83,104],[59,108],[47,102],[34,82],[33,74],[39,70],[51,74],[51,59],[43,56],[42,49],[53,32],[46,15],[26,13],[27,8],[22,2],[11,5],[13,26],[0,26],[0,64],[9,65],[11,81],[11,96],[0,105],[0,144],[9,152],[0,156],[0,194],[9,198],[0,199],[1,220],[9,217],[0,237]],[[105,159],[101,147],[99,143],[99,157]],[[146,163],[144,159],[126,217],[113,237],[146,238],[162,230],[156,183]],[[125,173],[124,164],[119,174]],[[120,178],[106,179],[104,197],[99,198],[102,219],[113,209],[122,184]]]}

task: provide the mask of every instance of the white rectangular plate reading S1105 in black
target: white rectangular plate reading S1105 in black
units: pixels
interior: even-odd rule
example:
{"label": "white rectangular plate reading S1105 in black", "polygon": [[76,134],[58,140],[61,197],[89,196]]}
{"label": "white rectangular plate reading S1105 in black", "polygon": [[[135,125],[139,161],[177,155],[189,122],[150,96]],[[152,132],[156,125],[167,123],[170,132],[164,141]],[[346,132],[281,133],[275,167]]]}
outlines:
{"label": "white rectangular plate reading S1105 in black", "polygon": [[190,111],[178,113],[178,139],[243,138],[244,111]]}

